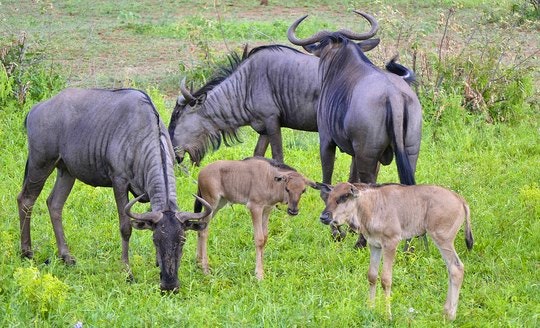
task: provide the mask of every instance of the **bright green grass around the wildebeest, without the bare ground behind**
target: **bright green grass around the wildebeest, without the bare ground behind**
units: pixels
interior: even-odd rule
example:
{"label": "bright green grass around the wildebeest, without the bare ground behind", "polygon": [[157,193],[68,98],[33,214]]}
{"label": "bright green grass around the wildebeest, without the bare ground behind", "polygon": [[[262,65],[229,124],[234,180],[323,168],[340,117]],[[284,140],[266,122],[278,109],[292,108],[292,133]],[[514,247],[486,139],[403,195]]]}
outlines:
{"label": "bright green grass around the wildebeest, without the bare ground behind", "polygon": [[[273,2],[277,3],[270,0],[271,6]],[[201,3],[191,1],[189,8],[195,10]],[[359,3],[355,2],[355,6]],[[478,9],[469,1],[459,3],[465,8]],[[313,5],[293,1],[287,6],[302,4]],[[404,1],[397,4],[411,6]],[[83,5],[69,2],[59,7],[76,14]],[[137,15],[144,16],[144,6],[134,6],[130,11],[123,5],[119,2],[116,8],[98,3],[87,10],[99,12],[100,17],[114,17],[119,24],[117,27],[127,29],[136,40],[145,36],[162,37],[160,33],[169,33],[176,24],[172,21],[161,25],[137,23]],[[373,8],[388,5],[377,1]],[[25,4],[21,6],[25,8]],[[431,1],[423,6],[439,10]],[[248,6],[250,8],[255,5]],[[120,17],[120,12],[124,16]],[[190,17],[203,17],[198,13]],[[444,17],[447,11],[442,9],[438,13]],[[281,20],[276,21],[276,30],[280,30]],[[195,31],[201,27],[201,22],[209,24],[212,20],[188,20],[186,24],[193,24]],[[339,25],[337,23],[326,22],[329,28]],[[247,24],[244,21],[238,26],[232,21],[228,24],[232,30],[249,29],[246,28],[249,25],[243,25]],[[262,24],[261,28],[269,35],[278,33],[272,23]],[[437,45],[443,25],[427,24],[438,34],[432,37],[433,48],[416,43],[417,72],[421,73],[419,94],[425,113],[417,181],[440,184],[462,194],[471,207],[475,237],[471,252],[466,251],[461,233],[456,238],[457,252],[465,264],[465,280],[455,323],[446,322],[442,316],[447,273],[440,254],[433,244],[425,249],[416,240],[415,253],[397,254],[392,288],[393,320],[387,320],[384,315],[380,287],[375,309],[368,308],[369,252],[353,249],[355,236],[348,236],[342,243],[331,240],[328,228],[319,223],[323,203],[314,190],[303,196],[298,216],[289,217],[280,206],[273,211],[265,249],[266,277],[261,282],[253,274],[255,247],[251,219],[248,211],[238,205],[222,209],[210,224],[210,275],[203,275],[195,263],[196,234],[190,232],[179,270],[180,291],[176,295],[161,295],[151,236],[145,231],[134,231],[130,255],[135,281],[126,282],[112,191],[79,182],[64,209],[65,234],[77,264],[65,266],[56,257],[45,205],[53,177],[46,183],[33,212],[35,258],[21,259],[16,196],[26,161],[24,116],[32,104],[63,88],[66,80],[60,67],[37,56],[44,54],[45,49],[32,48],[35,43],[21,48],[20,38],[15,37],[0,46],[9,47],[5,49],[12,54],[24,50],[36,56],[9,57],[26,58],[17,66],[21,69],[20,75],[13,74],[8,67],[8,62],[17,62],[14,59],[3,60],[0,65],[0,190],[3,191],[0,216],[4,219],[0,223],[0,326],[72,327],[76,323],[88,327],[538,326],[540,121],[534,65],[529,70],[527,65],[516,66],[519,60],[503,61],[493,71],[492,62],[479,60],[478,53],[458,56],[459,52],[452,51],[439,61]],[[144,29],[138,31],[137,26]],[[215,31],[215,35],[206,35],[202,29],[193,33],[200,33],[199,36],[209,42],[222,37],[219,31]],[[239,40],[241,38],[239,36]],[[402,45],[406,49],[404,60],[412,59],[409,41],[402,39]],[[493,50],[485,43],[482,46],[485,48],[476,49],[485,49],[486,54]],[[194,49],[196,56],[204,58],[204,47],[195,45]],[[196,84],[209,77],[213,65],[225,60],[224,49],[209,49],[212,53],[206,63],[201,61],[199,66],[184,67],[185,71],[194,70]],[[60,55],[58,51],[55,56]],[[497,62],[499,55],[493,52],[483,58],[495,58]],[[30,63],[32,58],[39,60]],[[423,58],[426,60],[422,61]],[[514,70],[507,71],[514,66]],[[439,83],[437,76],[443,77],[442,82]],[[486,88],[489,84],[486,81],[494,76],[502,78]],[[474,87],[469,83],[474,90],[486,89],[485,93],[478,92],[477,99],[481,97],[484,101],[480,107],[474,107],[467,100],[464,83],[467,77],[471,83],[477,82]],[[26,96],[21,98],[25,86]],[[164,94],[161,85],[135,86],[148,91],[163,120],[168,122],[174,97]],[[502,101],[490,103],[497,97],[504,98],[504,107],[497,108]],[[286,162],[311,179],[319,180],[317,134],[287,129],[283,133]],[[257,136],[249,128],[242,129],[241,134],[243,143],[209,154],[202,165],[218,159],[250,156]],[[347,179],[349,163],[347,155],[337,154],[336,181]],[[191,210],[199,168],[186,165],[176,169],[180,207]],[[381,168],[379,181],[397,180],[394,164]],[[56,297],[50,298],[50,295]]]}

